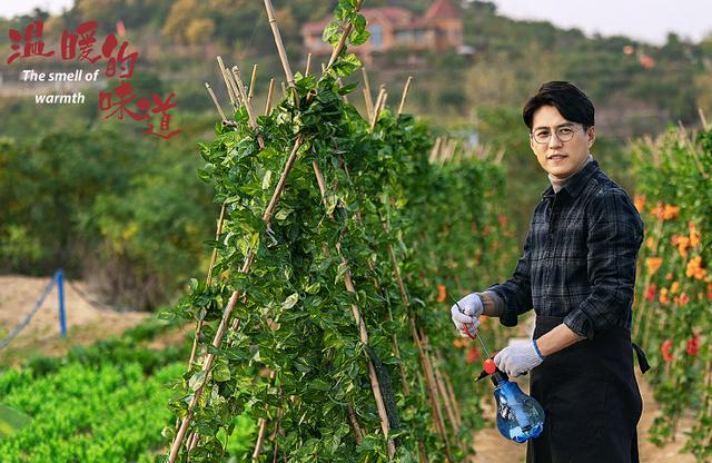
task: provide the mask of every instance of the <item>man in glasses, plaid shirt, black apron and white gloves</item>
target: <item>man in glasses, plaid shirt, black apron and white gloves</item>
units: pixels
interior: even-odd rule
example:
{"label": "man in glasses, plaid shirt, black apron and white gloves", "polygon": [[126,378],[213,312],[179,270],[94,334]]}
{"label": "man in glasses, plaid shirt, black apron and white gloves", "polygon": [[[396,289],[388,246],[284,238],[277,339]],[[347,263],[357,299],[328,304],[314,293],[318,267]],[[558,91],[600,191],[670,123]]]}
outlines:
{"label": "man in glasses, plaid shirt, black apron and white gloves", "polygon": [[642,400],[632,348],[641,370],[646,362],[630,328],[643,223],[590,154],[594,107],[584,92],[544,83],[523,118],[551,187],[512,278],[465,296],[452,308],[453,322],[466,336],[463,325],[475,334],[481,315],[515,326],[534,308],[532,342],[494,357],[511,376],[531,372],[531,395],[545,411],[542,435],[527,443],[528,463],[637,462]]}

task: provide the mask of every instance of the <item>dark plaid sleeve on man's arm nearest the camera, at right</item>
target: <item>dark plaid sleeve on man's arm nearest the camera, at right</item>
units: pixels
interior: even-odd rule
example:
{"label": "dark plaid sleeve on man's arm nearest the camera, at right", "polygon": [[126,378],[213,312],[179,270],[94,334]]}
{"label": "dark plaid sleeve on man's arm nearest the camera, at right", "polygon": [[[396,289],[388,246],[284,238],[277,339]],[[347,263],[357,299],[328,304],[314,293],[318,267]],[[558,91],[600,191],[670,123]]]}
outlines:
{"label": "dark plaid sleeve on man's arm nearest the camera, at right", "polygon": [[590,207],[586,245],[591,294],[566,315],[564,324],[592,339],[596,333],[630,316],[643,221],[620,189],[601,191]]}

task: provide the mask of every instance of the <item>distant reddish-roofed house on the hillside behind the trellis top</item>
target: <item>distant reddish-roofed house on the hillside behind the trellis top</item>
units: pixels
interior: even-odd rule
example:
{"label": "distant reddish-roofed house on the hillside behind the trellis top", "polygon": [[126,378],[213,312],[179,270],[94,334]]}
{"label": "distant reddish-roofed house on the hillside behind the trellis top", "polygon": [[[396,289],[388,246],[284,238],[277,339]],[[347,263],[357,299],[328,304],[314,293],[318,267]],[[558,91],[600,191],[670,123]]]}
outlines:
{"label": "distant reddish-roofed house on the hillside behind the trellis top", "polygon": [[[463,20],[459,9],[449,0],[435,0],[424,16],[398,7],[364,8],[370,39],[354,51],[369,62],[374,55],[388,50],[459,49],[463,46]],[[301,28],[304,47],[313,56],[332,52],[332,46],[322,40],[324,28],[332,21],[307,22]]]}

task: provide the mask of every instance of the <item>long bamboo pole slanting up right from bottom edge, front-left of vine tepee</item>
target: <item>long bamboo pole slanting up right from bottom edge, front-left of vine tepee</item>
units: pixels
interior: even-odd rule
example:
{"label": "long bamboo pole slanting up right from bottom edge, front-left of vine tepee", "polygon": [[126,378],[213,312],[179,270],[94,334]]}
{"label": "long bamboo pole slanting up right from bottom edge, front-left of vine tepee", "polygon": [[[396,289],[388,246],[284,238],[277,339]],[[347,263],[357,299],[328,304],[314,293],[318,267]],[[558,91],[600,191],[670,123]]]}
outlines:
{"label": "long bamboo pole slanting up right from bottom edge, front-left of vine tepee", "polygon": [[[301,144],[304,141],[304,137],[303,136],[298,136],[297,139],[295,140],[294,147],[291,149],[291,152],[289,154],[289,157],[287,158],[287,162],[285,165],[285,169],[281,173],[281,176],[279,178],[279,181],[277,184],[277,187],[275,188],[275,193],[271,196],[271,199],[269,201],[269,205],[267,206],[267,209],[265,210],[265,214],[263,215],[263,221],[265,221],[266,225],[269,225],[269,223],[271,221],[273,215],[275,213],[275,209],[277,207],[277,203],[279,201],[279,197],[281,196],[281,193],[284,191],[286,181],[287,181],[287,177],[289,176],[289,173],[291,171],[291,168],[294,167],[294,164],[297,159],[297,154],[299,151],[299,148],[301,147]],[[240,269],[241,273],[249,273],[253,262],[255,259],[255,253],[254,250],[251,250],[245,258],[245,262],[243,264],[243,267]],[[225,307],[225,311],[222,313],[222,318],[220,319],[220,324],[218,325],[218,329],[215,333],[215,337],[212,339],[212,347],[215,347],[216,349],[218,349],[220,347],[220,345],[222,344],[222,338],[225,336],[225,332],[227,328],[227,324],[230,319],[230,316],[233,315],[233,311],[235,309],[235,305],[237,304],[237,299],[239,298],[240,292],[239,290],[235,290],[233,292],[233,295],[230,296],[230,299],[227,304],[227,306]],[[206,361],[202,365],[202,371],[207,372],[210,371],[210,368],[212,367],[212,363],[215,362],[215,354],[208,354],[208,356],[206,357]],[[190,424],[190,421],[192,420],[192,412],[196,407],[196,405],[198,404],[198,401],[200,401],[200,396],[202,395],[202,391],[204,391],[204,386],[205,386],[205,382],[202,383],[202,385],[200,385],[194,393],[192,398],[190,400],[190,403],[188,404],[188,413],[186,414],[186,416],[182,418],[182,422],[180,423],[180,428],[178,430],[178,432],[176,433],[176,437],[174,439],[174,442],[171,444],[171,449],[170,449],[170,453],[168,456],[168,461],[169,463],[175,463],[177,456],[178,456],[178,452],[180,451],[180,447],[182,446],[182,441],[186,437],[186,433],[188,431],[188,425]]]}

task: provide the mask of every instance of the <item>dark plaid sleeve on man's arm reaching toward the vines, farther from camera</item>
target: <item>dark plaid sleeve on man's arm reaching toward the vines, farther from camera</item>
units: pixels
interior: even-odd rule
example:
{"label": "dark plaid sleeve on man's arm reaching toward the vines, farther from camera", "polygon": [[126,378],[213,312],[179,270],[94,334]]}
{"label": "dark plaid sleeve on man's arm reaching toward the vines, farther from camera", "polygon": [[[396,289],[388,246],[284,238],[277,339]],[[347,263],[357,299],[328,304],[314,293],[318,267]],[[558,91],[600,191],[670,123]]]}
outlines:
{"label": "dark plaid sleeve on man's arm reaching toward the vines, farther from camera", "polygon": [[524,254],[520,257],[512,278],[502,284],[495,283],[486,289],[502,298],[503,312],[500,315],[500,323],[504,326],[515,326],[518,315],[533,307],[531,246],[532,229],[530,227],[524,243]]}

